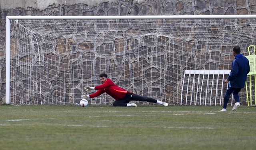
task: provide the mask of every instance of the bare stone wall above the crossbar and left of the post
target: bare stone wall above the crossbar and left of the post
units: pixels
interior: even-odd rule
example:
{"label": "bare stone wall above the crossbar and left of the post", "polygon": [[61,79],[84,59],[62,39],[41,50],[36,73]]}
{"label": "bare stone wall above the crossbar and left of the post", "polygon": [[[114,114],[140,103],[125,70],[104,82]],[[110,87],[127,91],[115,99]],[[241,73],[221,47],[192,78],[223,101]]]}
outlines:
{"label": "bare stone wall above the crossbar and left of the post", "polygon": [[6,16],[94,16],[94,15],[216,15],[256,14],[256,0],[122,0],[84,4],[52,4],[0,10],[0,103],[5,99],[5,34]]}

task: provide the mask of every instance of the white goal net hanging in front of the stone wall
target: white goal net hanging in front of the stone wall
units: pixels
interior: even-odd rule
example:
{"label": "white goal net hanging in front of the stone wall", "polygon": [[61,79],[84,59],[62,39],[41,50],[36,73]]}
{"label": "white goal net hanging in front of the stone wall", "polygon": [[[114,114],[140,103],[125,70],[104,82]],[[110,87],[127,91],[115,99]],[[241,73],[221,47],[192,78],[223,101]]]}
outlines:
{"label": "white goal net hanging in front of the stone wall", "polygon": [[[256,20],[244,16],[8,16],[6,97],[11,104],[76,104],[81,94],[96,92],[84,86],[100,85],[106,73],[130,92],[171,105],[222,105],[232,48],[248,56],[256,44]],[[255,104],[254,75],[250,81],[242,104]],[[88,102],[114,99],[102,94]]]}

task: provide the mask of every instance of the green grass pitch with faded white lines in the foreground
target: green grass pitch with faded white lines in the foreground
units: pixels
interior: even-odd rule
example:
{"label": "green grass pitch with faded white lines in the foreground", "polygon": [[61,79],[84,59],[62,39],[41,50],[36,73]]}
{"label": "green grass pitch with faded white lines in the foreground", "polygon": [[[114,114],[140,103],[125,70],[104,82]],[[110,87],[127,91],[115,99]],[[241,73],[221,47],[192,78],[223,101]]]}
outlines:
{"label": "green grass pitch with faded white lines in the foreground", "polygon": [[256,107],[0,106],[0,150],[255,150]]}

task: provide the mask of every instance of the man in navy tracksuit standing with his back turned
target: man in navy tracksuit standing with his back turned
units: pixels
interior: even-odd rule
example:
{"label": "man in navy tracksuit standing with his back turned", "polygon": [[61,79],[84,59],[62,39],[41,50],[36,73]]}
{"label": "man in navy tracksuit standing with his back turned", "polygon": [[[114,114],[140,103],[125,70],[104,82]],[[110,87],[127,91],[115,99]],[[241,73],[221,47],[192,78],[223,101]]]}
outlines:
{"label": "man in navy tracksuit standing with his back turned", "polygon": [[247,74],[250,72],[249,61],[246,57],[240,54],[240,51],[241,49],[239,46],[235,46],[233,48],[233,55],[235,58],[232,61],[232,68],[228,79],[224,81],[225,83],[228,83],[228,90],[226,91],[226,95],[224,97],[223,109],[220,110],[222,112],[226,111],[231,93],[233,93],[236,100],[232,111],[236,110],[236,108],[240,106],[238,93],[242,88],[244,88]]}

